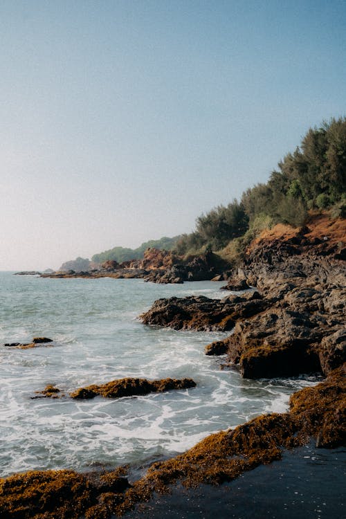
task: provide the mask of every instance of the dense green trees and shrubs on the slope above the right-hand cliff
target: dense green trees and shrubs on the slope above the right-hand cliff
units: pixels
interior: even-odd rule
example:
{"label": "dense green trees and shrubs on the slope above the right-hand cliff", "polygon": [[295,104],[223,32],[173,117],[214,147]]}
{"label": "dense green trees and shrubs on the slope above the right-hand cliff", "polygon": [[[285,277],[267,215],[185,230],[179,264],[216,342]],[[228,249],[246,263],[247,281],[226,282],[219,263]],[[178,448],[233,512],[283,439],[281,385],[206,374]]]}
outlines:
{"label": "dense green trees and shrubs on the slope above the right-hand cliff", "polygon": [[330,209],[332,217],[345,217],[345,193],[346,118],[331,119],[309,129],[267,183],[197,218],[194,232],[178,240],[176,252],[221,251],[228,246],[224,256],[242,259],[246,246],[264,228],[278,223],[302,226],[308,210]]}

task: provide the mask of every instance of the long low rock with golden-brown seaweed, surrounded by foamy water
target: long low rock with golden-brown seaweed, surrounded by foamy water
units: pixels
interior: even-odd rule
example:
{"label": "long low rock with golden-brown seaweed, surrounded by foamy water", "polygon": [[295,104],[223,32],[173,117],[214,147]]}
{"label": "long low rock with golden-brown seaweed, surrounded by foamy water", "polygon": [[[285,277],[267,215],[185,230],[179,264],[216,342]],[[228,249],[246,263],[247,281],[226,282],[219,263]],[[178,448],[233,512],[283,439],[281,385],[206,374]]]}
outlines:
{"label": "long low rock with golden-brown seaweed, surrounded by foamy water", "polygon": [[194,388],[196,383],[192,379],[160,379],[148,381],[147,379],[118,379],[106,384],[89,385],[79,388],[70,394],[73,399],[92,399],[97,395],[105,398],[134,397],[153,392],[164,392]]}

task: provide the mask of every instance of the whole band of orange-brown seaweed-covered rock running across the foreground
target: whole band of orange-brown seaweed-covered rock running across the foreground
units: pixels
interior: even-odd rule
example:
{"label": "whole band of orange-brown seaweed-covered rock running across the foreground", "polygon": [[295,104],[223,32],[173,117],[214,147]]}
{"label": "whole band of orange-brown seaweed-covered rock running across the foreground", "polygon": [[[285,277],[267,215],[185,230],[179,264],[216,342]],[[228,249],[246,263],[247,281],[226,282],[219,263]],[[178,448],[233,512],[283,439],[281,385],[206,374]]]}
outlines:
{"label": "whole band of orange-brown seaweed-covered rock running across the foreground", "polygon": [[[345,445],[345,365],[314,387],[293,394],[286,413],[262,415],[234,429],[217,432],[187,452],[156,462],[129,486],[124,468],[105,473],[30,471],[0,480],[0,516],[10,519],[110,519],[154,492],[185,486],[221,484],[244,471],[280,459],[282,451],[306,444]],[[162,381],[155,381],[158,387]],[[164,387],[170,386],[170,379]]]}

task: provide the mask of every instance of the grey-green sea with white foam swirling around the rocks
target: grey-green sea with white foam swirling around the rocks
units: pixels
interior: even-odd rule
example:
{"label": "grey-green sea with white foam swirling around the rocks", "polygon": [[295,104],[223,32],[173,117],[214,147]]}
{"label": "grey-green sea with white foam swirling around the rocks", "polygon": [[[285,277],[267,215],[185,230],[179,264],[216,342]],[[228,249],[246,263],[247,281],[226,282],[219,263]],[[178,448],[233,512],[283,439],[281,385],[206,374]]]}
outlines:
{"label": "grey-green sea with white foam swirling around the rocks", "polygon": [[[226,334],[147,327],[138,320],[158,298],[224,297],[221,284],[0,273],[0,477],[29,469],[140,466],[262,412],[284,412],[289,395],[316,379],[244,380],[237,370],[220,369],[224,358],[203,353]],[[4,346],[34,336],[55,342]],[[188,376],[197,388],[122,399],[33,399],[48,383],[68,394],[125,376]]]}

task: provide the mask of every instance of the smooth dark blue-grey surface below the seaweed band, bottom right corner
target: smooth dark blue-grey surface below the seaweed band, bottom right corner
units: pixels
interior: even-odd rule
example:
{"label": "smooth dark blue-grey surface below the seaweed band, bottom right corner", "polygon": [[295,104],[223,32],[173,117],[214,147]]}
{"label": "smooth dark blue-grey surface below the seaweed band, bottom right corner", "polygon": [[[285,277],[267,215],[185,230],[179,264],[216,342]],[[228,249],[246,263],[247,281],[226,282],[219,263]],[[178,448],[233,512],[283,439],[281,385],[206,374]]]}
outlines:
{"label": "smooth dark blue-grey surface below the seaweed band, bottom right corner", "polygon": [[346,519],[346,449],[286,451],[221,486],[174,486],[125,519]]}

